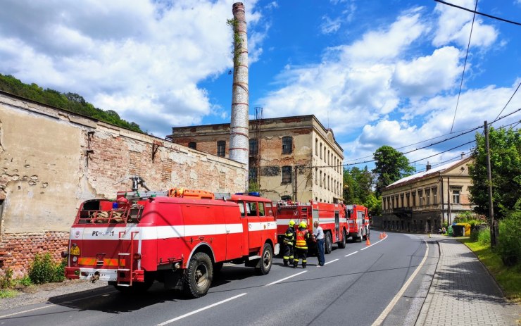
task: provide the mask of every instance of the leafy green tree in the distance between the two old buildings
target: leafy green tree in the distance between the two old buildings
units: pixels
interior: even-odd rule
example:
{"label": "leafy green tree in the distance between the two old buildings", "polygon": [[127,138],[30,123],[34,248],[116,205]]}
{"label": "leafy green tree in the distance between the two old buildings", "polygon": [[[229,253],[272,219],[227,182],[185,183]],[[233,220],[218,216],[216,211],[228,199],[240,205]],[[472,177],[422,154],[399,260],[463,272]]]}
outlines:
{"label": "leafy green tree in the distance between the two old buildings", "polygon": [[376,176],[375,191],[377,196],[381,196],[382,190],[389,184],[415,171],[409,165],[409,160],[391,146],[381,146],[375,151],[373,158],[375,159],[375,168],[372,173],[375,173]]}

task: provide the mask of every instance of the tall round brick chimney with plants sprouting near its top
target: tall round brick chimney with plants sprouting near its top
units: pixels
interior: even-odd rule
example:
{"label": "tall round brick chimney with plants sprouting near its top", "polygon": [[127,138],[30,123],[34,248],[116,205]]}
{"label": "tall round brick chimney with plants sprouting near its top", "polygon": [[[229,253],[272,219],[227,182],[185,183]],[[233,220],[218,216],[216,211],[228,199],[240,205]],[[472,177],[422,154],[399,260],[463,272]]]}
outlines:
{"label": "tall round brick chimney with plants sprouting near its top", "polygon": [[[230,122],[230,159],[246,165],[249,160],[249,91],[248,91],[248,35],[244,5],[232,6],[234,25],[234,69],[232,87],[232,120]],[[240,39],[240,42],[237,42]],[[248,187],[246,173],[245,187]],[[245,188],[245,189],[246,189]]]}

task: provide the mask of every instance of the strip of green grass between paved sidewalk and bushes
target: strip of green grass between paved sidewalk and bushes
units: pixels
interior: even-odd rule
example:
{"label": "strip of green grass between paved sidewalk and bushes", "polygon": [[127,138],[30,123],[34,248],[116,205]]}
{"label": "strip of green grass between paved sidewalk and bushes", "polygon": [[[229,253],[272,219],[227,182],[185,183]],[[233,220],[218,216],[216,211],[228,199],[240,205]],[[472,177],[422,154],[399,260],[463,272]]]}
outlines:
{"label": "strip of green grass between paved sidewalk and bushes", "polygon": [[506,267],[501,261],[501,257],[491,250],[490,244],[472,242],[469,238],[460,238],[459,242],[465,244],[472,250],[479,261],[485,265],[487,270],[496,279],[506,299],[515,303],[521,303],[521,263],[512,267]]}

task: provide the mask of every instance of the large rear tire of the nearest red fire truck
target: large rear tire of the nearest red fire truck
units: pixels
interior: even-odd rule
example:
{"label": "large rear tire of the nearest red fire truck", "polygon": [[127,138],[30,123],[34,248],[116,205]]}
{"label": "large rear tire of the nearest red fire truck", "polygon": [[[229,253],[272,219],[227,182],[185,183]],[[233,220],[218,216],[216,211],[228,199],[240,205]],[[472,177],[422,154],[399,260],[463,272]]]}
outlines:
{"label": "large rear tire of the nearest red fire truck", "polygon": [[183,291],[192,298],[204,296],[210,289],[212,278],[213,266],[210,257],[203,252],[196,253],[184,272]]}

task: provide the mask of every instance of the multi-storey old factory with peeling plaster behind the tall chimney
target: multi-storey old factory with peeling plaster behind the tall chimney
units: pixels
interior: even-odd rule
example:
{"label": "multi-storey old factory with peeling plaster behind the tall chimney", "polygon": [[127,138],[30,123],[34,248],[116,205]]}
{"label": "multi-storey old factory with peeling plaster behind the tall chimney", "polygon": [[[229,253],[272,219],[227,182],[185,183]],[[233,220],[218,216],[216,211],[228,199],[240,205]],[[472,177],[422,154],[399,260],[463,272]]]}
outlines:
{"label": "multi-storey old factory with peeling plaster behind the tall chimney", "polygon": [[[172,142],[227,157],[230,124],[173,127]],[[314,115],[249,120],[249,180],[272,200],[341,200],[343,149]]]}

